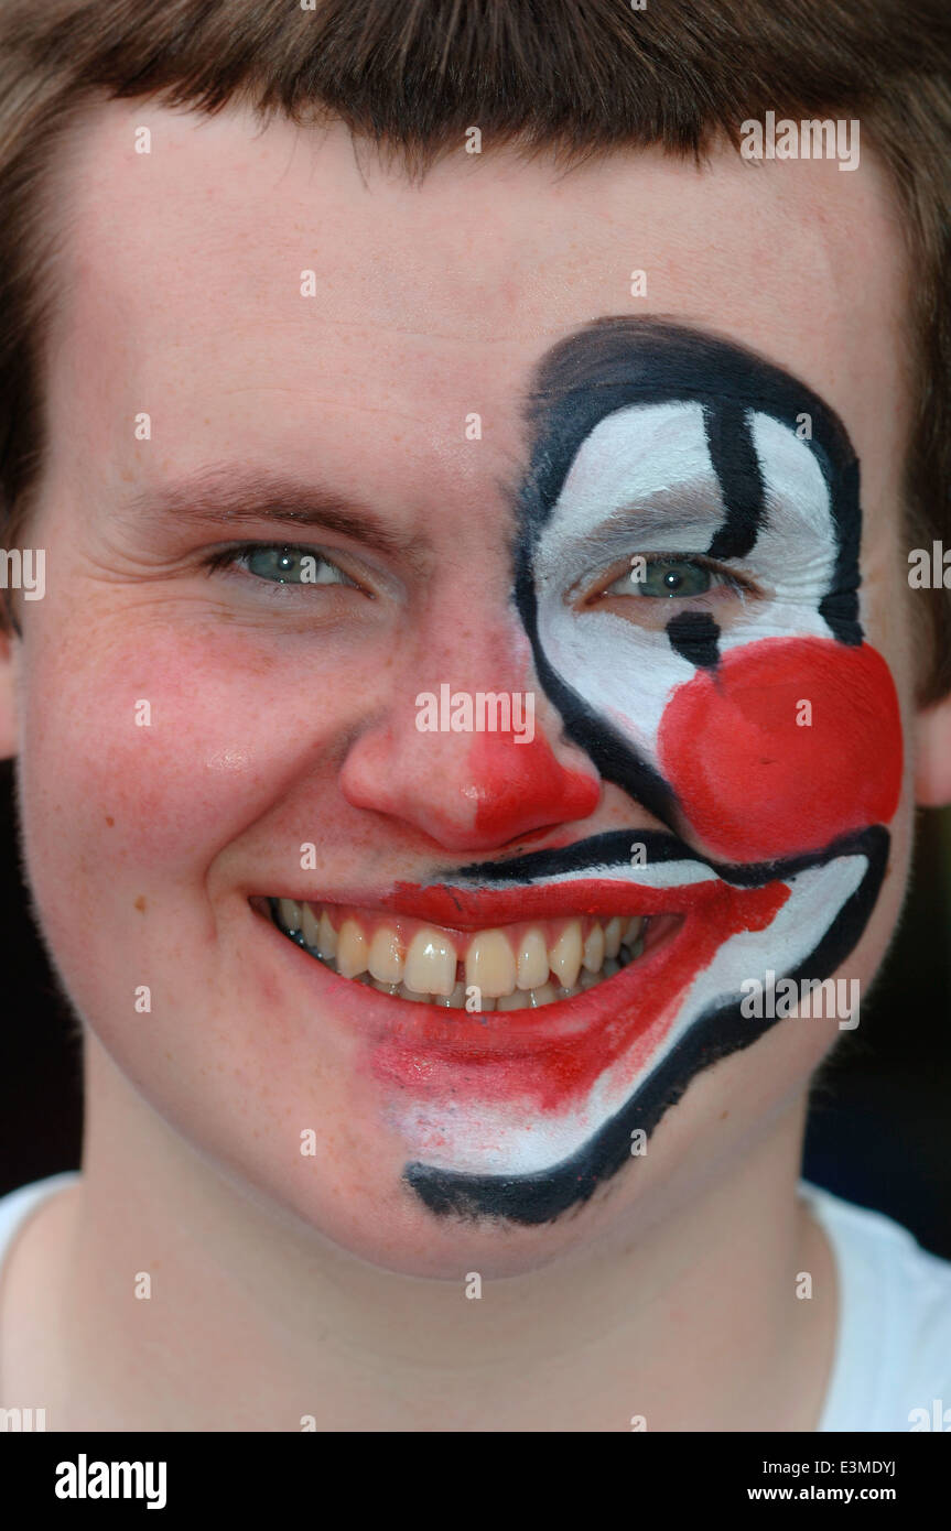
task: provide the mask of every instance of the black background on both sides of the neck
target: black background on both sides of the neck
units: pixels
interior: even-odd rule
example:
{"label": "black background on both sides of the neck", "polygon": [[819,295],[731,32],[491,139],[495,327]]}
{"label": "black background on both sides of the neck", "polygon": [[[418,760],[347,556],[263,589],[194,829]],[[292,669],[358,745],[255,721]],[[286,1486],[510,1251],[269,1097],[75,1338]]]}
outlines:
{"label": "black background on both sides of the neck", "polygon": [[[77,899],[83,890],[77,888]],[[80,1165],[81,1046],[34,929],[0,767],[5,929],[0,1196]],[[951,811],[919,818],[914,880],[861,1024],[821,1070],[804,1174],[951,1258]]]}

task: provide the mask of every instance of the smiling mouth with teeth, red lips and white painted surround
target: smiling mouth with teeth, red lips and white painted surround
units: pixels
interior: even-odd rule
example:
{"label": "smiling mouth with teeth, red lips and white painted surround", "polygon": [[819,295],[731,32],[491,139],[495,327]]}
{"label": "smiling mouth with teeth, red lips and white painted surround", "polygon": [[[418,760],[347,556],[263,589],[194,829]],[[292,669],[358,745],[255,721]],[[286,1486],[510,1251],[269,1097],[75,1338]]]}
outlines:
{"label": "smiling mouth with teeth, red lips and white painted surround", "polygon": [[536,1222],[579,1185],[587,1196],[629,1159],[631,1128],[652,1131],[683,1067],[773,1024],[740,1015],[743,981],[776,949],[790,974],[821,974],[838,949],[818,965],[810,911],[845,919],[882,871],[868,831],[818,863],[744,870],[743,882],[671,836],[640,834],[637,867],[622,831],[469,867],[452,883],[250,896],[300,1023],[352,1041],[407,1145],[407,1183],[435,1209],[499,1209],[501,1196],[507,1216]]}

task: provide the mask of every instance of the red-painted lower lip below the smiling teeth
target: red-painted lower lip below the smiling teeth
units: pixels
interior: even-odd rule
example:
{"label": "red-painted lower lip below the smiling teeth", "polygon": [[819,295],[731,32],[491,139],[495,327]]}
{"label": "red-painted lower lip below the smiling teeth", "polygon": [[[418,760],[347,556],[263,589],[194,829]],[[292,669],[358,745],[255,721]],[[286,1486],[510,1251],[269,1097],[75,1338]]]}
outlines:
{"label": "red-painted lower lip below the smiling teeth", "polygon": [[[332,1009],[368,1040],[378,1079],[418,1099],[464,1095],[564,1110],[619,1058],[632,1075],[640,1072],[718,948],[740,931],[766,929],[789,899],[789,888],[776,882],[743,890],[711,882],[685,893],[677,890],[678,911],[663,911],[683,914],[678,929],[613,978],[571,1000],[485,1015],[377,994],[331,972],[263,919],[312,984],[322,1014]],[[672,900],[645,890],[643,912],[662,912],[660,902]]]}

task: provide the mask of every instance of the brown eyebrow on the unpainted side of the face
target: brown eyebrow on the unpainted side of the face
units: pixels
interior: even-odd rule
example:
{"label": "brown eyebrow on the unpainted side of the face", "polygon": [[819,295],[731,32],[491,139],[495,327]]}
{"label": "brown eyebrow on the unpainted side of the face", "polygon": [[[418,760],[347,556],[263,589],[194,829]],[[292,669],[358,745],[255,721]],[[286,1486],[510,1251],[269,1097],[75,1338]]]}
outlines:
{"label": "brown eyebrow on the unpainted side of the face", "polygon": [[127,508],[145,524],[242,527],[265,521],[274,527],[314,527],[415,563],[426,547],[423,537],[397,530],[372,507],[288,473],[201,468],[139,491]]}

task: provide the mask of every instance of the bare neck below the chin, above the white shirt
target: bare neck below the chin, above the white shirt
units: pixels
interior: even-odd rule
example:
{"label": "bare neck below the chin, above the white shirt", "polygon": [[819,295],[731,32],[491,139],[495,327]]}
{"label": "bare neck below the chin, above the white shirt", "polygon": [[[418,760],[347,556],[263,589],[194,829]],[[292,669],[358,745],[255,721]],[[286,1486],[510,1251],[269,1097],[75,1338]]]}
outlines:
{"label": "bare neck below the chin, above the white shirt", "polygon": [[92,1036],[87,1108],[61,1297],[83,1416],[64,1428],[815,1428],[833,1314],[795,1295],[799,1271],[832,1292],[795,1197],[802,1095],[708,1156],[703,1183],[662,1176],[609,1234],[478,1300],[462,1277],[371,1266],[230,1179]]}

